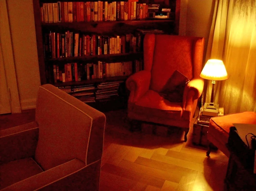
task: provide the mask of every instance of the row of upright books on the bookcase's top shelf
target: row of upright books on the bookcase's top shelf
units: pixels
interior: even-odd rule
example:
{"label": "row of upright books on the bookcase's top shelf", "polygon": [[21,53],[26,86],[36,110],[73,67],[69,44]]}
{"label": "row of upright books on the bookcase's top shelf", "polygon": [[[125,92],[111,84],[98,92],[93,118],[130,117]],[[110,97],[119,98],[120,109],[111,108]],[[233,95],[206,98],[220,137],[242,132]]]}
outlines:
{"label": "row of upright books on the bookcase's top shelf", "polygon": [[45,23],[127,21],[146,18],[148,5],[130,1],[56,2],[43,3],[41,7],[41,21]]}

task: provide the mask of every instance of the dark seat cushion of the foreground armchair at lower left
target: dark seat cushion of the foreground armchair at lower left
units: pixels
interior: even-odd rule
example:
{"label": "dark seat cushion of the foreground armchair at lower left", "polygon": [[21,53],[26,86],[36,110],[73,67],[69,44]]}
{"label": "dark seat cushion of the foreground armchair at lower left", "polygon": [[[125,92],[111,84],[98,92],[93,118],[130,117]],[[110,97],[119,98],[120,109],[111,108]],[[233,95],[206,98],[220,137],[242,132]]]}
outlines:
{"label": "dark seat cushion of the foreground armchair at lower left", "polygon": [[32,159],[20,159],[0,165],[0,190],[43,172]]}

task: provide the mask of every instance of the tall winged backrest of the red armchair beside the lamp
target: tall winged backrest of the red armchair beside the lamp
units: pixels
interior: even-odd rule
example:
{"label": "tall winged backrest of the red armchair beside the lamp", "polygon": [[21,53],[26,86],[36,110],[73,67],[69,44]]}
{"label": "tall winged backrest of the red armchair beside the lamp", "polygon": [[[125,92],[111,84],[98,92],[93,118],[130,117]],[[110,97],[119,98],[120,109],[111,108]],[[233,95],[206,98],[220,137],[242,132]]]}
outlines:
{"label": "tall winged backrest of the red armchair beside the lamp", "polygon": [[203,50],[204,38],[146,34],[144,69],[151,71],[150,89],[161,91],[175,70],[190,80],[199,78]]}

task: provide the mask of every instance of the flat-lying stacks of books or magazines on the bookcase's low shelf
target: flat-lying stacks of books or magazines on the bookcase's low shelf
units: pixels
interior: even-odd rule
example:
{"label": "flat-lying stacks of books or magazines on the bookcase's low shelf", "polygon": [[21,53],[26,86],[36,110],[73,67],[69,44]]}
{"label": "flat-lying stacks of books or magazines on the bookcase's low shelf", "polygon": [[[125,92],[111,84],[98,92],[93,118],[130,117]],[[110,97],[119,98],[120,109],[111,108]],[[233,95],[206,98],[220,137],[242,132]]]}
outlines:
{"label": "flat-lying stacks of books or magazines on the bookcase's low shelf", "polygon": [[79,99],[84,103],[90,103],[98,101],[106,101],[109,99],[113,99],[113,97],[118,96],[118,89],[120,83],[123,81],[115,81],[115,82],[103,82],[97,85],[97,88],[91,85],[82,85],[82,86],[67,86],[67,87],[59,87],[60,90],[69,93],[71,96]]}

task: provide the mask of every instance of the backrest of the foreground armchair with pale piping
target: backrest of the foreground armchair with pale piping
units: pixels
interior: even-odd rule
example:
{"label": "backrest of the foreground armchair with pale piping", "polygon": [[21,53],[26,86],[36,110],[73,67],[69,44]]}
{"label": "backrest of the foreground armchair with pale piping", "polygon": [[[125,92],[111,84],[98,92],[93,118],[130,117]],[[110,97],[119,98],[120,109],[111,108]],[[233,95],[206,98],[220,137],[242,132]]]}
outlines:
{"label": "backrest of the foreground armchair with pale piping", "polygon": [[101,158],[106,117],[58,88],[39,87],[39,138],[35,160],[48,170],[72,159],[89,164]]}

